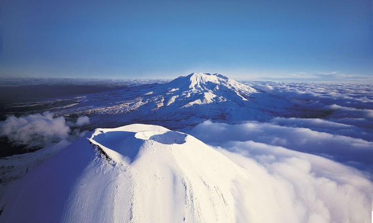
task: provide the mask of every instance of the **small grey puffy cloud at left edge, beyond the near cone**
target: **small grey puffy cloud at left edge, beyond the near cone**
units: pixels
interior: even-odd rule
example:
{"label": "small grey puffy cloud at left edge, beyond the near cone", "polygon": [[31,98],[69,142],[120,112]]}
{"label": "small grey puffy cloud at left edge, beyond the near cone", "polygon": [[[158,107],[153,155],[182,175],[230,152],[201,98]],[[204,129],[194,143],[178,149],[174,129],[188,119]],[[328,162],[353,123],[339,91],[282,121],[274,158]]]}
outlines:
{"label": "small grey puffy cloud at left edge, beyond the near cone", "polygon": [[[46,111],[43,114],[19,118],[8,117],[0,122],[0,136],[7,137],[15,146],[42,147],[51,142],[66,140],[71,136],[70,127],[87,124],[89,124],[88,117],[79,117],[76,123],[71,123],[66,122],[63,117],[54,117],[54,114]],[[74,134],[80,135],[81,132],[74,131]]]}

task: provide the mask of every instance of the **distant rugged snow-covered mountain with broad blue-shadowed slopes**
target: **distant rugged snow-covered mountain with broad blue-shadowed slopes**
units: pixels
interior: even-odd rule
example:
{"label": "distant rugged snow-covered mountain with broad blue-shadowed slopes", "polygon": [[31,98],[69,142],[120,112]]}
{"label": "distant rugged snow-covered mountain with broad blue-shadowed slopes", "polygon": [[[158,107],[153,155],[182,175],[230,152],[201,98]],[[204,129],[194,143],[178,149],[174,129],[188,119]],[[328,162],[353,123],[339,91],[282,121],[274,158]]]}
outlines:
{"label": "distant rugged snow-covered mountain with broad blue-shadowed slopes", "polygon": [[151,123],[173,129],[201,121],[264,120],[290,116],[292,103],[221,74],[192,73],[169,83],[77,98],[59,115],[87,115],[99,126]]}

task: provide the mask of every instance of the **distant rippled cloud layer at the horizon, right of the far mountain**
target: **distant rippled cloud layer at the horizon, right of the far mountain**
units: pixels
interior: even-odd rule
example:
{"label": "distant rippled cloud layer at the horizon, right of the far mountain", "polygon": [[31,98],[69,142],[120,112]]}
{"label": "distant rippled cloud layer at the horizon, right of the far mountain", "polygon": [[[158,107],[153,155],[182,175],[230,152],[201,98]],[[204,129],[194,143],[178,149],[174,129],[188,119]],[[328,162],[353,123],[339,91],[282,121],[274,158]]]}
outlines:
{"label": "distant rippled cloud layer at the horizon, right of the far mountain", "polygon": [[[351,111],[356,108],[362,115],[372,118],[373,95],[371,85],[338,83],[285,83],[272,81],[245,81],[251,87],[275,94],[288,100],[300,100],[308,108]],[[339,107],[333,107],[338,105]],[[357,111],[357,110],[354,110]],[[362,118],[362,117],[359,117]]]}

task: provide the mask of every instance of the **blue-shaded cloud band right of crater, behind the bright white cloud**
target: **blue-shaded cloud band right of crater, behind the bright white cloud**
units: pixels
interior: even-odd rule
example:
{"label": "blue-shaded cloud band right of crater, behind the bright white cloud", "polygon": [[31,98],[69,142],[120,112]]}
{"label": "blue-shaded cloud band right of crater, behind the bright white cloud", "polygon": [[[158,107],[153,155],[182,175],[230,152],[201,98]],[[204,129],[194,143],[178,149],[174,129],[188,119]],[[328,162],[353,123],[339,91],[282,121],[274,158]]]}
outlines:
{"label": "blue-shaded cloud band right of crater, behind the bright white cloud", "polygon": [[[319,119],[276,118],[271,122],[248,121],[236,125],[205,121],[189,133],[212,145],[228,141],[253,141],[317,154],[361,170],[373,171],[373,143],[367,141],[371,140],[371,132],[369,129],[367,131],[369,133],[363,134],[364,131],[360,132],[355,126]],[[359,134],[366,140],[353,137]]]}

